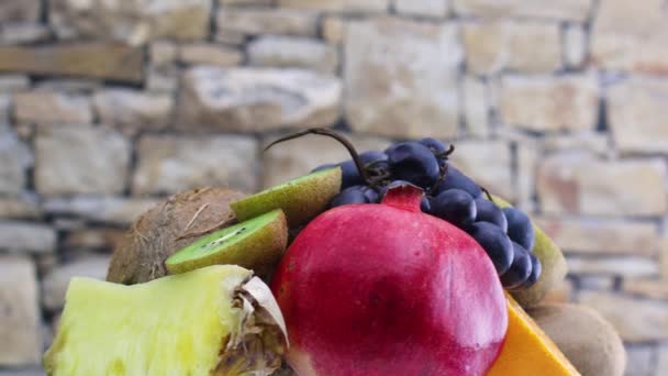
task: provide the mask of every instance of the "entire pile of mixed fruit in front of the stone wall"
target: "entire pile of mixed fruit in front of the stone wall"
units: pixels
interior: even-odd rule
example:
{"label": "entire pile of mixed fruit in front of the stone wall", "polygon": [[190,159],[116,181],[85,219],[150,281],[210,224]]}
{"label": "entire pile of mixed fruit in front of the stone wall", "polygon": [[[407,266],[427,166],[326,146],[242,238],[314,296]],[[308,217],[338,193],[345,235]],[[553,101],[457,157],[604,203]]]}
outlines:
{"label": "entire pile of mixed fruit in front of the stone wall", "polygon": [[308,133],[352,159],[252,196],[176,195],[135,222],[108,281],[73,279],[47,374],[623,373],[600,317],[541,306],[561,252],[457,170],[453,146],[357,154],[323,129],[275,144]]}

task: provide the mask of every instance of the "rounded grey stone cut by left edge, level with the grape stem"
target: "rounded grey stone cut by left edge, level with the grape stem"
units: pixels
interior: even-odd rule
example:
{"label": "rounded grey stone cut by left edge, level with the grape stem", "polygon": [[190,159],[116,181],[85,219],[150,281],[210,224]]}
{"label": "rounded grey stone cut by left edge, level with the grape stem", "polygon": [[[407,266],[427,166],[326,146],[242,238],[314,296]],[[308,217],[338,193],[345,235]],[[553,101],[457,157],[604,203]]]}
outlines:
{"label": "rounded grey stone cut by left edge, level with the grape stem", "polygon": [[23,190],[26,169],[33,165],[29,146],[0,123],[0,193],[15,195]]}

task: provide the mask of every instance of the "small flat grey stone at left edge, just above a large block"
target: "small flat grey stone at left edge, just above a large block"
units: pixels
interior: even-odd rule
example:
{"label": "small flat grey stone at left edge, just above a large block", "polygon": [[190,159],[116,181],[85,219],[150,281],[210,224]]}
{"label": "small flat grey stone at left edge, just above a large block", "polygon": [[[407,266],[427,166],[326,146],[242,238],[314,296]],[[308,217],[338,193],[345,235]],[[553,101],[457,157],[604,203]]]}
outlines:
{"label": "small flat grey stone at left edge, just above a large block", "polygon": [[12,252],[53,253],[56,232],[46,225],[0,221],[0,250]]}

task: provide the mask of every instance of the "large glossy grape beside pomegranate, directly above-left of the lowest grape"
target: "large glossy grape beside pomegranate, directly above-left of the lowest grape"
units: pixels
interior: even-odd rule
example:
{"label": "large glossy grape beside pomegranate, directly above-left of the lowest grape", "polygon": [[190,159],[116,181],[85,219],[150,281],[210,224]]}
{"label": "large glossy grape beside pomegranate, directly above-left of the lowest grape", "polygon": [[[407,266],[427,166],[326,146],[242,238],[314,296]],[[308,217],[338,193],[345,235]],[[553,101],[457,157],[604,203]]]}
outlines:
{"label": "large glossy grape beside pomegranate, directly above-left of the lowest grape", "polygon": [[501,228],[489,222],[476,222],[468,228],[468,234],[487,252],[499,275],[510,268],[513,244]]}

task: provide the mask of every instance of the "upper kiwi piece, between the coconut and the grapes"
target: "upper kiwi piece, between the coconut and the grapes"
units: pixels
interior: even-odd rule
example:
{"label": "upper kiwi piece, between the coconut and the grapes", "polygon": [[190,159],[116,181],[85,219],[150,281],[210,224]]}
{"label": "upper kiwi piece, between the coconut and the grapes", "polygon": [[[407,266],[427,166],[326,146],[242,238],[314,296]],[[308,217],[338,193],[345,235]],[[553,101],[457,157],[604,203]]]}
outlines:
{"label": "upper kiwi piece, between the coconut and the grapes", "polygon": [[230,207],[240,221],[282,209],[292,229],[323,212],[339,191],[341,167],[334,167],[248,196]]}

